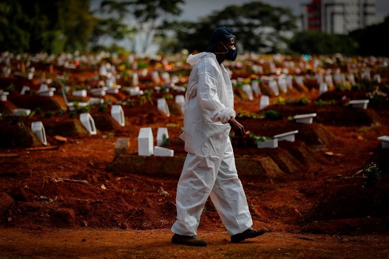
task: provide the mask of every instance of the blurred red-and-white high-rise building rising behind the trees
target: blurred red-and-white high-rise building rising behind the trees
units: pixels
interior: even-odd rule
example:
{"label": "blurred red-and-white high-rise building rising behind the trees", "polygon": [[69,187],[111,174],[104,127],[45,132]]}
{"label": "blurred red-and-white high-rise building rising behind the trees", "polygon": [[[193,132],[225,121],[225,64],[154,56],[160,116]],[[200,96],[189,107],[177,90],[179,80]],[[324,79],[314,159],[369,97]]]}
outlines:
{"label": "blurred red-and-white high-rise building rising behind the trees", "polygon": [[301,9],[304,30],[347,34],[376,23],[375,0],[312,0]]}

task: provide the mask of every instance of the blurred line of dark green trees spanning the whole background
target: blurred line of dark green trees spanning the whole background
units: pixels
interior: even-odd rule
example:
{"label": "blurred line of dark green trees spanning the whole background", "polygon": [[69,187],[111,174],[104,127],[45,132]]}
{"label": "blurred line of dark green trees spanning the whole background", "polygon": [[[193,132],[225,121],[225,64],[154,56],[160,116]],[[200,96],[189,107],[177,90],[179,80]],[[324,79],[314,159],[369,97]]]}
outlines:
{"label": "blurred line of dark green trees spanning the whole background", "polygon": [[[125,49],[131,52],[145,53],[155,42],[165,53],[201,52],[215,28],[229,26],[245,52],[389,56],[389,16],[382,23],[336,35],[298,31],[298,17],[290,9],[262,2],[227,6],[196,22],[178,21],[183,4],[183,0],[103,0],[91,10],[89,0],[2,0],[0,51],[118,51],[121,47],[115,42],[127,39]],[[107,39],[113,42],[109,47],[101,44]]]}

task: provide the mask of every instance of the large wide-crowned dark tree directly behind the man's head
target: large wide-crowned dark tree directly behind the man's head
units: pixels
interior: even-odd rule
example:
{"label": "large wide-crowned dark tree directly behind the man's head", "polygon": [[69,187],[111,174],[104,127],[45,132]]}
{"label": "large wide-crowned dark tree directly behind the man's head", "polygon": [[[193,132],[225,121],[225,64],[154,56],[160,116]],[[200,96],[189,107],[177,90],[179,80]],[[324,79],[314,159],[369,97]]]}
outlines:
{"label": "large wide-crowned dark tree directly behind the man's head", "polygon": [[[248,52],[278,52],[286,47],[287,34],[296,29],[294,20],[290,9],[253,2],[228,6],[199,22],[171,22],[164,24],[164,27],[174,31],[178,38],[177,42],[171,42],[174,46],[170,48],[175,50],[203,51],[214,29],[229,26],[234,29],[240,49]],[[159,35],[164,36],[162,33]],[[169,46],[165,45],[164,48]]]}

